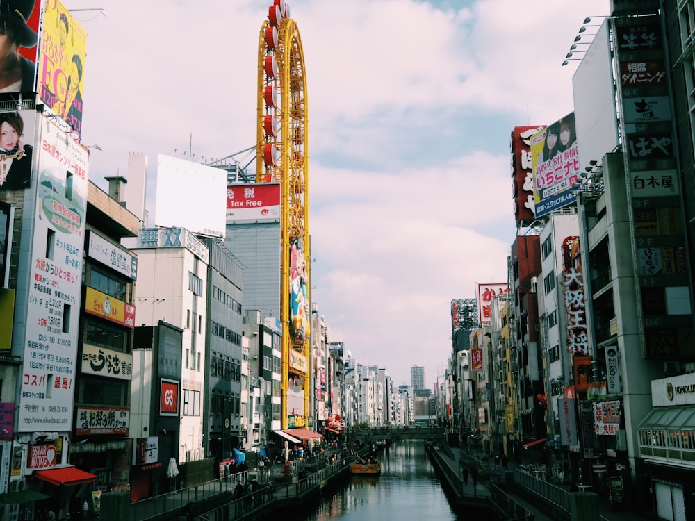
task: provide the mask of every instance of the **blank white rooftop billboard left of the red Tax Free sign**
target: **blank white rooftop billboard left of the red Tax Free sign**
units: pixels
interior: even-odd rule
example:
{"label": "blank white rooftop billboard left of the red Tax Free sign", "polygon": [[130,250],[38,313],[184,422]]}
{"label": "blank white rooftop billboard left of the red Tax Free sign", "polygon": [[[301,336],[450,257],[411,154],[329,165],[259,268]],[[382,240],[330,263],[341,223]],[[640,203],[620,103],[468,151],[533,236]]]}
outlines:
{"label": "blank white rooftop billboard left of the red Tax Free sign", "polygon": [[157,156],[155,222],[222,236],[227,172],[192,161]]}

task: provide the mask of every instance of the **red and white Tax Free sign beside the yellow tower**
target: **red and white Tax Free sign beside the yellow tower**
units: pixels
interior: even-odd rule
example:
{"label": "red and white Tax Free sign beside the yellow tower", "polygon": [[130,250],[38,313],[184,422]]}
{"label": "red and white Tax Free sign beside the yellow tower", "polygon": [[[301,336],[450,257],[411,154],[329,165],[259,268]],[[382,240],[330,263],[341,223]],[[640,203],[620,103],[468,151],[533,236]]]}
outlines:
{"label": "red and white Tax Free sign beside the yellow tower", "polygon": [[227,222],[277,221],[280,218],[279,183],[227,187]]}

